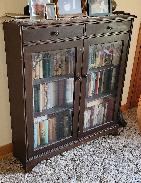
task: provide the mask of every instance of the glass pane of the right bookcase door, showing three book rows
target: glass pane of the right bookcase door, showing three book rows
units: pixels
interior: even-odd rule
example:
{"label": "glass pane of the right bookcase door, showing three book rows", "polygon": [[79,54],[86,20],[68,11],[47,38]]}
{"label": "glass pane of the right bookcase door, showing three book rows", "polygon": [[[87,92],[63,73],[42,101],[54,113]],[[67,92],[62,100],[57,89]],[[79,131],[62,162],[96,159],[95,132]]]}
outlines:
{"label": "glass pane of the right bookcase door, showing three book rows", "polygon": [[88,45],[83,132],[113,121],[121,53],[122,41]]}

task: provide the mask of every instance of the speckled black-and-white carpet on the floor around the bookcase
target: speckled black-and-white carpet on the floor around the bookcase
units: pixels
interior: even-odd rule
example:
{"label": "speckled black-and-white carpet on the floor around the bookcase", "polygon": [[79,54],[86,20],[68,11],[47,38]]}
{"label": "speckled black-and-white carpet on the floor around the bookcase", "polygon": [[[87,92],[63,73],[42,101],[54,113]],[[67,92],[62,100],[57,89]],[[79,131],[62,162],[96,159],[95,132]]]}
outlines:
{"label": "speckled black-and-white carpet on the floor around the bookcase", "polygon": [[24,174],[12,156],[0,161],[0,183],[141,183],[141,136],[136,110],[119,136],[106,136],[38,164]]}

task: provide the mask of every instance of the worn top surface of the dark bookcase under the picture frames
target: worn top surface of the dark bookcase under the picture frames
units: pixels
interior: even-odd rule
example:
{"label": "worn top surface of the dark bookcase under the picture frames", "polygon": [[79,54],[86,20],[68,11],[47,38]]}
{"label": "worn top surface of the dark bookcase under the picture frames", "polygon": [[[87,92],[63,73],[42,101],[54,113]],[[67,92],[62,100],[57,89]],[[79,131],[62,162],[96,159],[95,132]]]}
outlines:
{"label": "worn top surface of the dark bookcase under the picture frames", "polygon": [[69,25],[69,24],[83,24],[83,23],[108,23],[108,22],[118,22],[118,21],[128,21],[133,20],[135,18],[134,15],[130,14],[112,14],[110,16],[102,16],[102,17],[87,17],[87,16],[80,16],[80,17],[65,17],[65,18],[58,18],[55,20],[31,20],[31,19],[9,19],[3,18],[3,22],[12,22],[19,26],[50,26],[50,25]]}

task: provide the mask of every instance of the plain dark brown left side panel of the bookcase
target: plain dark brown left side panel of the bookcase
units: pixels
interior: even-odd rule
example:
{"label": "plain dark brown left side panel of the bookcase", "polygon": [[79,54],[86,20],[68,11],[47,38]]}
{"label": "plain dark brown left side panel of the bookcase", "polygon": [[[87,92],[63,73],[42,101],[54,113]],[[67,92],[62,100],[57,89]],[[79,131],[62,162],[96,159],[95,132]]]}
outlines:
{"label": "plain dark brown left side panel of the bookcase", "polygon": [[7,76],[14,156],[25,165],[26,124],[24,115],[24,75],[20,26],[4,23]]}

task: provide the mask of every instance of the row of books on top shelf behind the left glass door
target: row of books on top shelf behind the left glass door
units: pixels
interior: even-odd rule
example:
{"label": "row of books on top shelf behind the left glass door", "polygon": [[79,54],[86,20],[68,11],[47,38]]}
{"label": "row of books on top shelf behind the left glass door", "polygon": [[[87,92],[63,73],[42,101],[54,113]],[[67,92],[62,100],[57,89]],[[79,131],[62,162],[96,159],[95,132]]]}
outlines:
{"label": "row of books on top shelf behind the left glass door", "polygon": [[75,48],[33,53],[33,80],[74,73]]}

